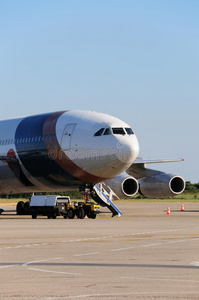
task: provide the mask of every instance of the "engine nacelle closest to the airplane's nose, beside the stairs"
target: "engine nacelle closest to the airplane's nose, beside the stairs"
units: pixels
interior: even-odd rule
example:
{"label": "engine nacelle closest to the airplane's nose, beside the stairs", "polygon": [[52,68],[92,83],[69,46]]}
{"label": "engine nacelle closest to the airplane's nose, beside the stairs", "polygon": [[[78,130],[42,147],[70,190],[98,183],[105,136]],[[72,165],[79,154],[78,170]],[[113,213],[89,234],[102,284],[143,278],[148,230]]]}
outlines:
{"label": "engine nacelle closest to the airplane's nose, beside the stairs", "polygon": [[139,190],[138,181],[126,172],[105,182],[121,199],[132,197]]}

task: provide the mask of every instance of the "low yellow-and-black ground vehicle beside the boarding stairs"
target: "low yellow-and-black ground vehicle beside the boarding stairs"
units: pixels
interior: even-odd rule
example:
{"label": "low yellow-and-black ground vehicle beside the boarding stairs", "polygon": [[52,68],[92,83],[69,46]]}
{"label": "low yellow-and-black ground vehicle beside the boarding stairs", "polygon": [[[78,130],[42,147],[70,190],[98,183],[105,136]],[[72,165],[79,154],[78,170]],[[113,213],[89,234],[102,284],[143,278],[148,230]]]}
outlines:
{"label": "low yellow-and-black ground vehicle beside the boarding stairs", "polygon": [[95,219],[100,213],[99,205],[94,202],[72,202],[68,206],[68,218],[73,219],[75,216],[79,219],[84,219],[85,216]]}

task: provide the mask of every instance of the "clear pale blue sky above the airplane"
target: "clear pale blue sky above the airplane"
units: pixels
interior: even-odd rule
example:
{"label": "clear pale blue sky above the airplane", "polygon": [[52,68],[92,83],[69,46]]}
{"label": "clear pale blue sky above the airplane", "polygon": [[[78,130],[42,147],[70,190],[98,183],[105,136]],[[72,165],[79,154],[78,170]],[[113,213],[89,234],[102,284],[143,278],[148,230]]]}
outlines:
{"label": "clear pale blue sky above the airplane", "polygon": [[0,0],[0,118],[116,116],[143,158],[199,182],[199,1]]}

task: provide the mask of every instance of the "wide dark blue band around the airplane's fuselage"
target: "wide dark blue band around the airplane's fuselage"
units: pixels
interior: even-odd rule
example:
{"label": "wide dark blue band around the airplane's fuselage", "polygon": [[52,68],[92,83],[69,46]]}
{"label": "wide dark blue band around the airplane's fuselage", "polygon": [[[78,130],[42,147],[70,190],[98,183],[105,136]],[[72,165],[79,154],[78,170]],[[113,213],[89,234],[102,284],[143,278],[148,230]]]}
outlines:
{"label": "wide dark blue band around the airplane's fuselage", "polygon": [[63,170],[49,155],[43,127],[52,113],[24,118],[15,133],[15,146],[25,169],[39,182],[51,187],[78,186],[81,181]]}

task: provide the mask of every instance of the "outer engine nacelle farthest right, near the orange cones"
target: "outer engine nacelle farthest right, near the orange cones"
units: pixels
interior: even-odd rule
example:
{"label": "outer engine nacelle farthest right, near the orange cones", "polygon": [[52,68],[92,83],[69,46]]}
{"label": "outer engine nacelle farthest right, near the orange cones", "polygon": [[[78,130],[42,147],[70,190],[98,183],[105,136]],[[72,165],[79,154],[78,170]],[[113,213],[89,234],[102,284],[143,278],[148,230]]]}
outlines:
{"label": "outer engine nacelle farthest right, near the orange cones", "polygon": [[149,198],[164,198],[181,194],[185,181],[181,176],[160,173],[139,181],[139,193]]}

